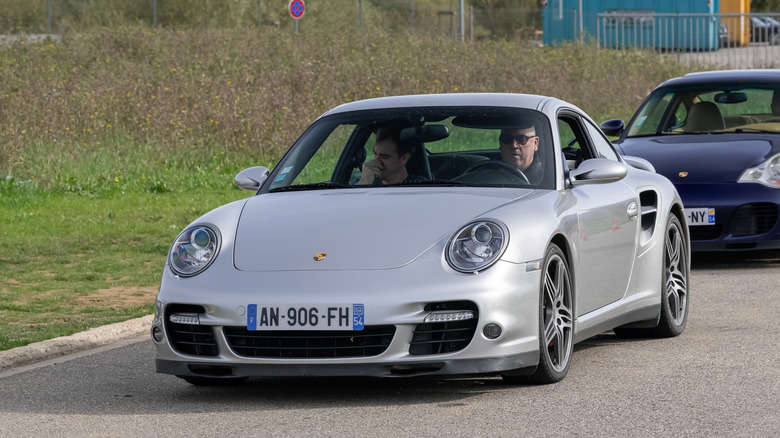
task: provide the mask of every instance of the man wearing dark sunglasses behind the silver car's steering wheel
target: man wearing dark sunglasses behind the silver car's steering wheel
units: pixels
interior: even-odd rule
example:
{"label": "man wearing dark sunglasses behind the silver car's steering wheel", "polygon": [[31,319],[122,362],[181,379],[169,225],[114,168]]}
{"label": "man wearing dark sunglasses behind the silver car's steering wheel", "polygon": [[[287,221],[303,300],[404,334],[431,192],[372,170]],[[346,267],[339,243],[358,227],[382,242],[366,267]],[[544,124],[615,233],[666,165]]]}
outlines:
{"label": "man wearing dark sunglasses behind the silver car's steering wheel", "polygon": [[542,161],[537,157],[539,137],[536,127],[529,122],[519,128],[504,128],[498,136],[498,149],[501,159],[525,174],[531,184],[542,180]]}

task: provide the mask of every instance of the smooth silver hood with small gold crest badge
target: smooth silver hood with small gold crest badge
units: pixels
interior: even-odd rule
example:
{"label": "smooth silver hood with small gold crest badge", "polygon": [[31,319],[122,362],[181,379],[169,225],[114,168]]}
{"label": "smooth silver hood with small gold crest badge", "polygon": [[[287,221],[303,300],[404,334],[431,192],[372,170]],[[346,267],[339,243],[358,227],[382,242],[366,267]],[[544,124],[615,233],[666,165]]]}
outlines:
{"label": "smooth silver hood with small gold crest badge", "polygon": [[[372,188],[269,193],[247,200],[234,263],[243,271],[392,269],[532,190]],[[315,255],[324,254],[322,260]]]}

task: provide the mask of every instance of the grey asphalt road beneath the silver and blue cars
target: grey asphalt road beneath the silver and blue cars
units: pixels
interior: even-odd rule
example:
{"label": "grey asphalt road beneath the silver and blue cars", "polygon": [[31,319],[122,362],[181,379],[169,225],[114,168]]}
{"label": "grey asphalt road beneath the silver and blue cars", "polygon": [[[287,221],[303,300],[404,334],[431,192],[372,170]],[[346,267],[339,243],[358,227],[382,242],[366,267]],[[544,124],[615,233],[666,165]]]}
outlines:
{"label": "grey asphalt road beneath the silver and blue cars", "polygon": [[686,331],[604,334],[547,386],[497,377],[256,379],[154,372],[146,337],[0,373],[0,436],[776,437],[780,259],[694,259]]}

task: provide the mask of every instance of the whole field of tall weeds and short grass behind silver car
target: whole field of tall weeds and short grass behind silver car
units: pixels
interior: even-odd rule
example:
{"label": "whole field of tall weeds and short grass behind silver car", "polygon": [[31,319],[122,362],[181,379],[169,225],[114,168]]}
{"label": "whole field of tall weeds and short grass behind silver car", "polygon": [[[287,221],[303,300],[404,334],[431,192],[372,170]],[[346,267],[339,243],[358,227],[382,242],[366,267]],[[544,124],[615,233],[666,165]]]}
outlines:
{"label": "whole field of tall weeds and short grass behind silver car", "polygon": [[0,45],[0,349],[151,313],[178,232],[246,196],[233,175],[272,167],[335,105],[522,92],[599,122],[687,70],[588,45],[333,29],[122,25]]}

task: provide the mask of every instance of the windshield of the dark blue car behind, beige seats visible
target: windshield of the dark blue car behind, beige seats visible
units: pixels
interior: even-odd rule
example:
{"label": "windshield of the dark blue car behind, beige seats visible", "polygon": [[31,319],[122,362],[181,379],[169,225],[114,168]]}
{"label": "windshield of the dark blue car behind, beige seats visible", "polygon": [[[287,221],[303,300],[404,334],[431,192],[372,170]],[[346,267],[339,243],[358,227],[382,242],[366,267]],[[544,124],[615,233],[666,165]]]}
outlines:
{"label": "windshield of the dark blue car behind, beige seats visible", "polygon": [[727,132],[780,132],[780,90],[724,85],[655,91],[627,136]]}

